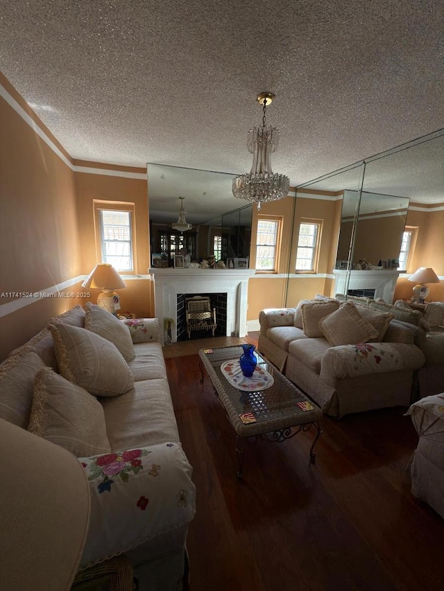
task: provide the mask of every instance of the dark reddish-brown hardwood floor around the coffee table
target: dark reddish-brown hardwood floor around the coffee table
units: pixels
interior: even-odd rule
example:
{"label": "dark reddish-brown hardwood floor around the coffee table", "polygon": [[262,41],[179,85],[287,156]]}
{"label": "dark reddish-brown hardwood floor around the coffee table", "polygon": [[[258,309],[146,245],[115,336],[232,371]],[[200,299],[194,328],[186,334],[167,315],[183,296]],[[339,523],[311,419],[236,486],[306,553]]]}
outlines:
{"label": "dark reddish-brown hardwood floor around the coffee table", "polygon": [[197,488],[191,591],[444,589],[444,520],[410,493],[418,436],[405,409],[323,418],[314,465],[314,430],[251,444],[239,482],[234,430],[199,381],[202,343],[165,348]]}

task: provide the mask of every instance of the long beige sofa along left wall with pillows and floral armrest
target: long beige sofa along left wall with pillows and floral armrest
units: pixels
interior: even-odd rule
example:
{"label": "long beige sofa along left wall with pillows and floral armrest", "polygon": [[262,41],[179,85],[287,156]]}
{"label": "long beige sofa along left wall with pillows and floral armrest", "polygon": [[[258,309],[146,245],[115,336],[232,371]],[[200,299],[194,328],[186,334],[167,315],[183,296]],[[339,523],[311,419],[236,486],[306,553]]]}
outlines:
{"label": "long beige sofa along left wall with pillows and floral armrest", "polygon": [[126,553],[140,590],[178,590],[196,491],[158,321],[126,326],[99,306],[85,308],[51,319],[0,365],[0,418],[82,464],[91,515],[80,571]]}

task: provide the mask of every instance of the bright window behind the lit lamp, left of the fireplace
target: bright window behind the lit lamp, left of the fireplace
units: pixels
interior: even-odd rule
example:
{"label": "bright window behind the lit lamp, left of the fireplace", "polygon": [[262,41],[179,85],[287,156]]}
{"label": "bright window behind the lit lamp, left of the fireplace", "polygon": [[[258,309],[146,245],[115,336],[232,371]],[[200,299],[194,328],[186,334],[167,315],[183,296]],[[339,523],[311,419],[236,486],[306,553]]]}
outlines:
{"label": "bright window behind the lit lamp, left of the fireplace", "polygon": [[100,207],[98,211],[102,263],[118,271],[133,271],[133,212]]}

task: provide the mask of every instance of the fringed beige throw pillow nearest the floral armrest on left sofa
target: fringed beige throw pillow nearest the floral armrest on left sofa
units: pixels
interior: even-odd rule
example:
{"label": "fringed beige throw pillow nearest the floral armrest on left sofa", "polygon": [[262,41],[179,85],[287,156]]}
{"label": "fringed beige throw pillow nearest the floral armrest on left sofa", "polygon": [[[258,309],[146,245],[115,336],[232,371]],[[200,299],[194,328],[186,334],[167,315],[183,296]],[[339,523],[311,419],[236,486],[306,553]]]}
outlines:
{"label": "fringed beige throw pillow nearest the floral armrest on left sofa", "polygon": [[111,451],[99,400],[51,367],[43,367],[35,376],[28,431],[76,457]]}

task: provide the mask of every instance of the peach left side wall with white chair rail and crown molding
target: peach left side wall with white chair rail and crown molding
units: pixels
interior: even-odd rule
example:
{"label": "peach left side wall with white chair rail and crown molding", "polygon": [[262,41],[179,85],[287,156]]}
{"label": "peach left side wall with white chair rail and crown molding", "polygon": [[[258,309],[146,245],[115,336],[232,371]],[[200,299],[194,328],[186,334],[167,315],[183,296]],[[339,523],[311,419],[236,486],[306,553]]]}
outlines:
{"label": "peach left side wall with white chair rail and crown molding", "polygon": [[[70,161],[1,74],[0,83]],[[82,272],[74,172],[3,98],[0,121],[0,292],[45,292]],[[80,283],[65,291],[76,293],[79,288]],[[40,298],[15,311],[13,304],[1,308],[15,300],[0,299],[1,359],[46,326],[50,317],[81,301]]]}

